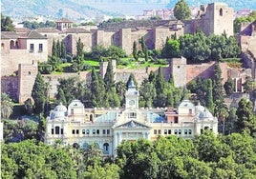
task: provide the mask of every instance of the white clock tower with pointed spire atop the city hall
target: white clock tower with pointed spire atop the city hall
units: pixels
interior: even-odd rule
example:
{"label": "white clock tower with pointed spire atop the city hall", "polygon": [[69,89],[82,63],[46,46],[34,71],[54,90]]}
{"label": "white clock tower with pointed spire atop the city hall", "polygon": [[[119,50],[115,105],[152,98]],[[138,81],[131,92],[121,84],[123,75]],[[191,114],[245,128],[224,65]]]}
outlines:
{"label": "white clock tower with pointed spire atop the city hall", "polygon": [[139,91],[136,89],[133,79],[129,82],[128,89],[125,92],[125,108],[139,108]]}

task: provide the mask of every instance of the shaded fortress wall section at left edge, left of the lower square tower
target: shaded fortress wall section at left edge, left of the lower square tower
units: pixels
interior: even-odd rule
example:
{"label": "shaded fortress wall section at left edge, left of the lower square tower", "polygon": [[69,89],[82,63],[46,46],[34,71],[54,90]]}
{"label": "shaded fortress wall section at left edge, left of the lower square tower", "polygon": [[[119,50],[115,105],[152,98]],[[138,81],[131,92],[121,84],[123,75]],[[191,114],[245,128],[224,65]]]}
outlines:
{"label": "shaded fortress wall section at left edge, left of the lower square tower", "polygon": [[12,99],[18,101],[18,76],[2,76],[1,92],[6,92]]}

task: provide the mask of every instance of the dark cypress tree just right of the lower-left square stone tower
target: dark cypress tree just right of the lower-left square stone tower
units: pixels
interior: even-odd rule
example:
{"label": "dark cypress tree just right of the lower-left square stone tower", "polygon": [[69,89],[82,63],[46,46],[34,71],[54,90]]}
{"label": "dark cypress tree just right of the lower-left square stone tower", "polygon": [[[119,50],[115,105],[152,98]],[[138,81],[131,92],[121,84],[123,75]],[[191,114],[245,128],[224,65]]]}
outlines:
{"label": "dark cypress tree just right of the lower-left square stone tower", "polygon": [[34,101],[34,112],[39,114],[44,111],[46,104],[46,85],[38,72],[32,87],[32,99]]}

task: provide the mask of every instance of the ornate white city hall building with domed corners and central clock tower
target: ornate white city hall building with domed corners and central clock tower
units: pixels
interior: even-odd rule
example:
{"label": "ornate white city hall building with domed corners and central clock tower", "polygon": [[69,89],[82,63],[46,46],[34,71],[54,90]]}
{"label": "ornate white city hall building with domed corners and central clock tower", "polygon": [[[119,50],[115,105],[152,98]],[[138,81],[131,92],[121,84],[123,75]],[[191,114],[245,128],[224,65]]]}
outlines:
{"label": "ornate white city hall building with domed corners and central clock tower", "polygon": [[122,141],[156,140],[159,135],[193,138],[203,129],[218,132],[218,120],[203,106],[183,100],[178,109],[140,109],[133,81],[125,93],[124,109],[85,109],[74,100],[68,109],[59,105],[47,118],[45,143],[61,140],[81,148],[96,143],[106,156],[114,156]]}

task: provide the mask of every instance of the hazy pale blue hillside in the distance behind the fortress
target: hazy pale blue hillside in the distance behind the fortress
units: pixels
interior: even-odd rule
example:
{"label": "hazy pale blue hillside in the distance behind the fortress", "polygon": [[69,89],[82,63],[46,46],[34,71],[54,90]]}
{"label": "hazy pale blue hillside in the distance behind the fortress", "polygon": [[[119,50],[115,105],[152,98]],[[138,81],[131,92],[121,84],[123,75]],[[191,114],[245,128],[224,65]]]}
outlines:
{"label": "hazy pale blue hillside in the distance behind the fortress", "polygon": [[[200,7],[220,0],[186,0],[191,7]],[[171,9],[178,0],[5,0],[1,2],[2,12],[14,18],[44,15],[70,19],[101,18],[102,15],[139,15],[142,10]],[[223,0],[235,10],[256,10],[255,0]],[[18,5],[18,6],[17,6]]]}

